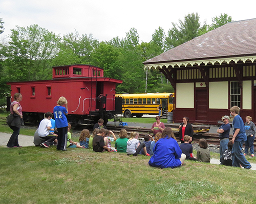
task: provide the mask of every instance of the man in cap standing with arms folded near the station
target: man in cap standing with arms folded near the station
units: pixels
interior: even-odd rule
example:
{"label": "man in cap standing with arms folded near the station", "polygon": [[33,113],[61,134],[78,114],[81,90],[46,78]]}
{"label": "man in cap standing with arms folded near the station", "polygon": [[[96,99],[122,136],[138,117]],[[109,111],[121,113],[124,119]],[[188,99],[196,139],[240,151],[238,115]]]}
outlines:
{"label": "man in cap standing with arms folded near the station", "polygon": [[219,133],[220,138],[220,157],[225,152],[225,150],[228,149],[227,143],[229,142],[230,132],[230,118],[227,115],[224,115],[221,119],[224,122],[224,124],[222,124],[221,127],[217,130],[217,133]]}

